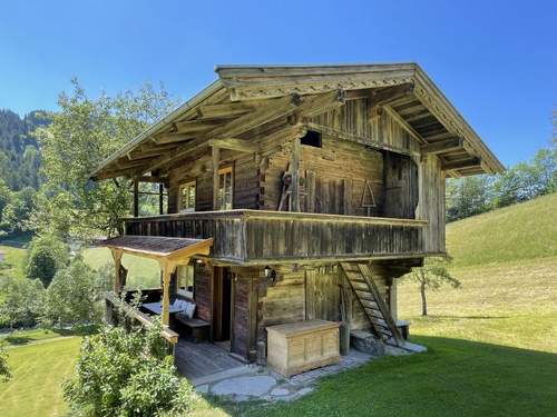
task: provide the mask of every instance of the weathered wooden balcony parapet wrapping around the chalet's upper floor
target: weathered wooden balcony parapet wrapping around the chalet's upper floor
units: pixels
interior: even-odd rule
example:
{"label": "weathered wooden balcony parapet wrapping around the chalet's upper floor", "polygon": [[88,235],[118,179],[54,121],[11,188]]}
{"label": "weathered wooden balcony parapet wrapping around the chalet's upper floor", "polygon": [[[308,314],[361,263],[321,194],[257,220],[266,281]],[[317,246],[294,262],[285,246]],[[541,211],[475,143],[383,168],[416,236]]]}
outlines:
{"label": "weathered wooden balcony parapet wrapping around the chalet's upper floor", "polygon": [[211,257],[237,265],[423,256],[426,220],[227,210],[125,219],[125,234],[213,238]]}

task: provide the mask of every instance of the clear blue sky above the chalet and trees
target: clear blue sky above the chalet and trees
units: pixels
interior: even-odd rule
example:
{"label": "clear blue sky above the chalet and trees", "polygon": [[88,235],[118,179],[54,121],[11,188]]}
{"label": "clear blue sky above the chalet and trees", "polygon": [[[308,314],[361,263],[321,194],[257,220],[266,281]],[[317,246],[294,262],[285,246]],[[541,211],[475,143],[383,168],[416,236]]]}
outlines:
{"label": "clear blue sky above the chalet and trees", "polygon": [[56,110],[158,83],[187,99],[217,63],[416,61],[505,165],[549,143],[557,1],[9,1],[0,108]]}

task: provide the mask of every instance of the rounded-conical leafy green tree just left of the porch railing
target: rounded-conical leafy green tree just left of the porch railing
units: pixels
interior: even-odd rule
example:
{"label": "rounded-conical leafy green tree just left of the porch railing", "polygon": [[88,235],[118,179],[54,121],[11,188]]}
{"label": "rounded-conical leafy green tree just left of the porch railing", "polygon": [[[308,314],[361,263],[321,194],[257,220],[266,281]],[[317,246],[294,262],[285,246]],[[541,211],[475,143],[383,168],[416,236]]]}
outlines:
{"label": "rounded-conical leafy green tree just left of the porch railing", "polygon": [[56,272],[43,298],[41,321],[46,325],[88,325],[100,321],[102,289],[97,272],[81,256]]}

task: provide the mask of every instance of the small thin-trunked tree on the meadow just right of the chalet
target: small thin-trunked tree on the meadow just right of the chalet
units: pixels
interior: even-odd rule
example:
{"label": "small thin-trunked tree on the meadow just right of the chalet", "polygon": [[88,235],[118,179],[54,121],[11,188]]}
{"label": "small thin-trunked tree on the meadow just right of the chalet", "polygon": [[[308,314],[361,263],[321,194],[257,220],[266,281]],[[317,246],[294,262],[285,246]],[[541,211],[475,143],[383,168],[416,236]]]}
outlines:
{"label": "small thin-trunked tree on the meadow just right of the chalet", "polygon": [[422,316],[428,315],[427,289],[437,290],[446,284],[449,284],[453,288],[461,286],[460,281],[447,269],[450,261],[451,258],[449,257],[428,258],[423,267],[412,268],[412,271],[409,274],[410,279],[417,281],[420,287]]}

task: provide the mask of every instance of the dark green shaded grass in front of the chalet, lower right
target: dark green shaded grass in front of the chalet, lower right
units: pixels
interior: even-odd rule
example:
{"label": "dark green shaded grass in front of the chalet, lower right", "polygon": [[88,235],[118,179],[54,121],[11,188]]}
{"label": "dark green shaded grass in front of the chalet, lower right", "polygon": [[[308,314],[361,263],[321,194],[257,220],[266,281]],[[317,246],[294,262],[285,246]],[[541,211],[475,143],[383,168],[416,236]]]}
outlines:
{"label": "dark green shaded grass in front of the chalet, lower right", "polygon": [[323,378],[294,403],[231,404],[234,416],[557,416],[557,355],[440,337],[427,354],[384,357]]}

